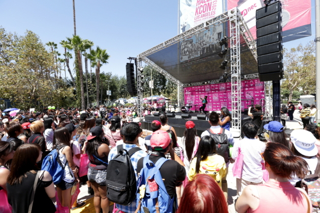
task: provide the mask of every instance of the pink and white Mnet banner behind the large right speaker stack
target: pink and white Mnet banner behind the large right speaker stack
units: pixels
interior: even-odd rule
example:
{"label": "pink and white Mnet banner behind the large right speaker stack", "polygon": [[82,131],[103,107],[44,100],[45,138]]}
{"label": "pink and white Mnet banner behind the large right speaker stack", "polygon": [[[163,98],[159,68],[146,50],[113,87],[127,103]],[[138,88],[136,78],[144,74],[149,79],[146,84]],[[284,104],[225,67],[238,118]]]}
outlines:
{"label": "pink and white Mnet banner behind the large right speaker stack", "polygon": [[[311,0],[280,0],[282,3],[283,41],[311,35]],[[227,0],[228,10],[238,7],[252,35],[256,39],[256,10],[263,0]]]}

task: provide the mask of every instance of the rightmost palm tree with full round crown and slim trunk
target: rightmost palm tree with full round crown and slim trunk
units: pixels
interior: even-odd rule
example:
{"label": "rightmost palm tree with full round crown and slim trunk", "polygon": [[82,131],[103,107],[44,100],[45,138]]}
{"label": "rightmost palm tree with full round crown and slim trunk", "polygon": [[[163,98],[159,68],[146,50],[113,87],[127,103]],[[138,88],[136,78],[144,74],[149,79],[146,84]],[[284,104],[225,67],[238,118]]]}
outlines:
{"label": "rightmost palm tree with full round crown and slim trunk", "polygon": [[100,85],[100,66],[103,63],[108,63],[109,55],[107,50],[96,47],[96,50],[91,50],[88,59],[96,66],[96,105],[99,105],[99,85]]}

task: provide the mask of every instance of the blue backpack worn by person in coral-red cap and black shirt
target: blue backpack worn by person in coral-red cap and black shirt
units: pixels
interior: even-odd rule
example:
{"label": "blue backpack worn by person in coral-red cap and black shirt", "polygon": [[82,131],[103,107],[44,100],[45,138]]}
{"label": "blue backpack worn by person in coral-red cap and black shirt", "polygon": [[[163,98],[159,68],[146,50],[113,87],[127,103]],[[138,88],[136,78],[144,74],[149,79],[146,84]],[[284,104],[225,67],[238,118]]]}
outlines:
{"label": "blue backpack worn by person in coral-red cap and black shirt", "polygon": [[[168,159],[161,157],[156,164],[143,158],[143,169],[137,182],[138,213],[172,213],[175,196],[171,199],[162,181],[160,168]],[[143,192],[145,190],[145,193]],[[141,193],[141,194],[140,194]],[[140,196],[141,195],[141,196]]]}

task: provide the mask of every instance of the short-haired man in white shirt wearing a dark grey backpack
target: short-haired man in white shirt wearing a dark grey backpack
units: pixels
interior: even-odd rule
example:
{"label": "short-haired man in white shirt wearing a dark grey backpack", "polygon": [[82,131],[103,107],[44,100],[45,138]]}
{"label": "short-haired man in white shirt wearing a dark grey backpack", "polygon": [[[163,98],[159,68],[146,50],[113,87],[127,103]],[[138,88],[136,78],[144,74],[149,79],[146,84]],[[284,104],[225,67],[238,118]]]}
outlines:
{"label": "short-haired man in white shirt wearing a dark grey backpack", "polygon": [[[219,115],[218,115],[218,113],[216,113],[216,112],[210,113],[210,115],[209,115],[209,123],[211,125],[211,127],[210,127],[210,131],[211,132],[213,132],[215,134],[220,133],[221,126],[218,124],[219,123]],[[234,145],[234,140],[233,140],[233,136],[232,136],[231,132],[229,132],[228,130],[224,129],[224,134],[226,134],[229,144],[231,144],[233,146]],[[203,136],[205,136],[205,135],[210,136],[210,133],[207,130],[202,132],[201,138]],[[231,161],[232,161],[232,159],[231,159]],[[226,182],[226,176],[228,174],[229,162],[227,162],[225,165],[226,165],[226,174],[222,178],[222,190],[224,191],[224,197],[227,200],[227,197],[228,197],[228,183]]]}

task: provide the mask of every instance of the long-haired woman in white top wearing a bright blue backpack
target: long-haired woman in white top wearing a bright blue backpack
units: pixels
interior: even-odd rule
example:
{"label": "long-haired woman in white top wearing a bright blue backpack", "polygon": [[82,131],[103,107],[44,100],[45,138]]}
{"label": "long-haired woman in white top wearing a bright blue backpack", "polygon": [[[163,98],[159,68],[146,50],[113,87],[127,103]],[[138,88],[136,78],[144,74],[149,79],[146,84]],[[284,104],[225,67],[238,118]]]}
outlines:
{"label": "long-haired woman in white top wearing a bright blue backpack", "polygon": [[62,181],[57,186],[58,198],[64,207],[71,209],[71,188],[75,180],[79,183],[76,166],[72,159],[70,147],[70,133],[67,128],[59,127],[55,130],[53,139],[53,149],[57,149],[59,159],[64,166]]}

